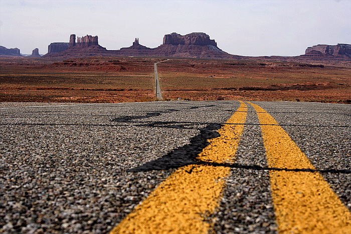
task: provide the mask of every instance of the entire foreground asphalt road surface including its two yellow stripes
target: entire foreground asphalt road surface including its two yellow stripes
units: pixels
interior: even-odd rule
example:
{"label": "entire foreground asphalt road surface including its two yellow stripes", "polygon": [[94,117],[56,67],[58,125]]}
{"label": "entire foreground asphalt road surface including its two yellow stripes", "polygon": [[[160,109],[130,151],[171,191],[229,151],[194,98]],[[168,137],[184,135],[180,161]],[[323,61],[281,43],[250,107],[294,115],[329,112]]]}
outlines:
{"label": "entire foreground asphalt road surface including its two yellow stripes", "polygon": [[350,233],[351,106],[0,103],[0,232]]}

